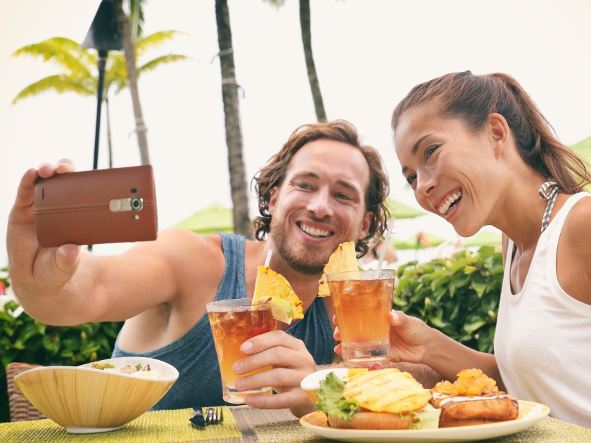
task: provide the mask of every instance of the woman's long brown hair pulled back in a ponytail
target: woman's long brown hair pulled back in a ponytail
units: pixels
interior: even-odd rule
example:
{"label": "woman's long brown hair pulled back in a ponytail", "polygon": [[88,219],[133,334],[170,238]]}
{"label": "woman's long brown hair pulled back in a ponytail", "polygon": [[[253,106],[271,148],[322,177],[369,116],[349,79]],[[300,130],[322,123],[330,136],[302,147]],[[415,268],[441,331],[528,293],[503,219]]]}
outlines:
{"label": "woman's long brown hair pulled back in a ponytail", "polygon": [[405,111],[431,102],[438,106],[440,115],[459,117],[472,131],[483,129],[490,114],[502,115],[519,155],[535,172],[552,178],[566,194],[583,191],[590,184],[587,162],[558,141],[538,106],[510,75],[454,72],[418,84],[396,106],[393,130]]}

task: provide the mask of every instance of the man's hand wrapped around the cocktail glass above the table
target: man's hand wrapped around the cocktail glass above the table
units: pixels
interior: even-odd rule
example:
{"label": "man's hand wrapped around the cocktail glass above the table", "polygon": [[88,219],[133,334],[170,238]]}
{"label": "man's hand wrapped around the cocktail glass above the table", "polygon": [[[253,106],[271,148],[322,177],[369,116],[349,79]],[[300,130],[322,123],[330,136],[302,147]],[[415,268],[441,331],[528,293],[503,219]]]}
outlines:
{"label": "man's hand wrapped around the cocktail glass above the table", "polygon": [[316,410],[314,403],[300,388],[300,383],[309,374],[316,372],[314,359],[304,342],[274,330],[257,335],[244,342],[241,351],[248,357],[236,361],[232,369],[236,374],[245,374],[265,366],[270,371],[248,375],[236,380],[236,389],[245,391],[271,386],[275,395],[249,395],[246,404],[260,409],[289,408],[294,416],[301,417]]}

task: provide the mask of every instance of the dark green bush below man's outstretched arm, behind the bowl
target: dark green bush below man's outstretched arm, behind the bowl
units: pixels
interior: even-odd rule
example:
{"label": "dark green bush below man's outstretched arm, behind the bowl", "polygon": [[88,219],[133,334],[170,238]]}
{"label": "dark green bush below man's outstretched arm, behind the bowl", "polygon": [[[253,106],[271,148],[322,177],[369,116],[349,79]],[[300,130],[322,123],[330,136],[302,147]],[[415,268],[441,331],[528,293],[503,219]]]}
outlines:
{"label": "dark green bush below man's outstretched arm, behind the bowl", "polygon": [[[6,269],[4,269],[6,271]],[[6,287],[9,278],[1,278]],[[18,304],[0,307],[0,422],[10,421],[6,392],[6,365],[20,361],[43,366],[75,366],[108,359],[123,322],[48,326],[26,312],[14,316]]]}

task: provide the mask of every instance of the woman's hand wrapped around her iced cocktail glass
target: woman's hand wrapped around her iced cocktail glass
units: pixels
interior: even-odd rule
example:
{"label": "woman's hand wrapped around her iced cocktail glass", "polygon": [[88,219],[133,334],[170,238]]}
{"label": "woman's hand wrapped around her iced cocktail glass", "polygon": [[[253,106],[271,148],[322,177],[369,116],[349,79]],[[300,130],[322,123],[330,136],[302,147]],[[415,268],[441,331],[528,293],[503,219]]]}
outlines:
{"label": "woman's hand wrapped around her iced cocktail glass", "polygon": [[[336,318],[333,318],[336,323]],[[433,329],[423,321],[407,316],[401,311],[391,311],[388,314],[390,321],[390,361],[398,363],[423,363],[426,355],[426,345],[429,342]],[[341,340],[338,326],[334,332],[335,340]],[[342,354],[341,344],[335,347],[337,354]]]}

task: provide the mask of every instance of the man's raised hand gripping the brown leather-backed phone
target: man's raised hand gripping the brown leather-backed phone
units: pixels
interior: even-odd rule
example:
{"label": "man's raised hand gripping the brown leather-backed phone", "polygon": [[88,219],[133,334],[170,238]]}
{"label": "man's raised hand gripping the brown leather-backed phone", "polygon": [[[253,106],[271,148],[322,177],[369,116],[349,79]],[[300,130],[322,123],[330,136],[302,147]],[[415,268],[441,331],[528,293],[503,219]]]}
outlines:
{"label": "man's raised hand gripping the brown leather-backed phone", "polygon": [[[39,248],[34,215],[35,180],[53,174],[74,172],[72,160],[60,160],[55,167],[44,163],[29,169],[20,180],[16,200],[8,217],[6,247],[12,285],[19,299],[55,293],[68,283],[80,261],[80,247]],[[21,302],[24,300],[21,300]]]}

